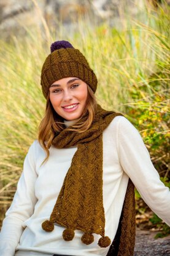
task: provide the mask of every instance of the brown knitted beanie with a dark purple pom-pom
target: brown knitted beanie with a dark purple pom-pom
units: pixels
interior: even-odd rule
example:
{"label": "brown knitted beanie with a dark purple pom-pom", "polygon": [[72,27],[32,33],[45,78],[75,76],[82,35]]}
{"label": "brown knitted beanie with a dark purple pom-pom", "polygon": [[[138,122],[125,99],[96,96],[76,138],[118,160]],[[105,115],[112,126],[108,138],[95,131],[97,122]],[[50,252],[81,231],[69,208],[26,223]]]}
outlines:
{"label": "brown knitted beanie with a dark purple pom-pom", "polygon": [[45,59],[41,71],[41,86],[45,98],[53,82],[69,77],[81,79],[96,92],[96,75],[78,49],[74,49],[68,41],[53,42],[50,49],[51,54]]}

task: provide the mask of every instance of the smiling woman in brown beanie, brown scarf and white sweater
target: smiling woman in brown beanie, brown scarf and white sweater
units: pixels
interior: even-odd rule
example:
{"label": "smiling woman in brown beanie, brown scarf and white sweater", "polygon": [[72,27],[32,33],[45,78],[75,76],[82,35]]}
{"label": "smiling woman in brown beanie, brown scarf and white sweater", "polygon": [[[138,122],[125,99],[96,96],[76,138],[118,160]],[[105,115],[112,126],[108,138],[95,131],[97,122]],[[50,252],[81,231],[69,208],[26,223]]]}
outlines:
{"label": "smiling woman in brown beanie, brown scarf and white sweater", "polygon": [[97,82],[78,49],[52,44],[45,116],[2,225],[1,256],[133,255],[133,183],[170,225],[169,189],[136,128],[96,103]]}

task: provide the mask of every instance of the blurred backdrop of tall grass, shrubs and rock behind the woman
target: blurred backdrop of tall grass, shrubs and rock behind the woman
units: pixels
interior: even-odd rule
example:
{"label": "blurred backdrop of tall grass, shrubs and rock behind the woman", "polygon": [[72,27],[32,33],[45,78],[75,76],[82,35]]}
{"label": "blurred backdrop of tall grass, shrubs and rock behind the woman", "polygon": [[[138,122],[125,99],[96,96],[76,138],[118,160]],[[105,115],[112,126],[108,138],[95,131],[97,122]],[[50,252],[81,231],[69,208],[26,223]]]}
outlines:
{"label": "blurred backdrop of tall grass, shrubs and rock behind the woman", "polygon": [[[50,44],[68,40],[98,77],[103,108],[122,112],[141,133],[161,180],[169,182],[170,1],[1,0],[1,222],[45,110],[41,68]],[[169,227],[136,191],[136,224]]]}

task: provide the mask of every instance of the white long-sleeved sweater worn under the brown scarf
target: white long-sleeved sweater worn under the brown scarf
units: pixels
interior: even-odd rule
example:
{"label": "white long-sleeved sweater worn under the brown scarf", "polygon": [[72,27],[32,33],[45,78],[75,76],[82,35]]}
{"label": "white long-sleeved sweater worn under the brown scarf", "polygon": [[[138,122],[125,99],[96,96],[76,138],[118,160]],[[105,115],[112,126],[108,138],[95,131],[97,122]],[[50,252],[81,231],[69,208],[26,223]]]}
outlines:
{"label": "white long-sleeved sweater worn under the brown scarf", "polygon": [[[66,122],[69,126],[71,121]],[[75,230],[72,241],[63,240],[63,226],[55,225],[48,233],[41,224],[50,217],[64,177],[77,147],[50,148],[50,158],[41,166],[45,152],[34,143],[26,155],[23,172],[14,200],[2,225],[0,255],[79,255],[107,254],[109,247],[95,242],[81,242],[82,231]],[[103,203],[106,217],[105,233],[111,240],[117,231],[128,177],[147,205],[170,225],[170,192],[160,181],[149,152],[136,128],[123,116],[117,116],[103,132]],[[17,252],[15,253],[15,249]]]}

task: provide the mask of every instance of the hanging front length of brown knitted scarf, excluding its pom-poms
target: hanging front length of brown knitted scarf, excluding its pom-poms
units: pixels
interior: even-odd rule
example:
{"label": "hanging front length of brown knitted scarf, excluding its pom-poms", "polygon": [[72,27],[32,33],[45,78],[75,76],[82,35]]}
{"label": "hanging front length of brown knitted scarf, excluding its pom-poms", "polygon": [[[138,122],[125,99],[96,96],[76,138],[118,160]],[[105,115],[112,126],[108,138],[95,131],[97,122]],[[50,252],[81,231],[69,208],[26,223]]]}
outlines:
{"label": "hanging front length of brown knitted scarf, excluding its pom-poms", "polygon": [[78,145],[50,221],[104,236],[101,150],[101,136]]}

